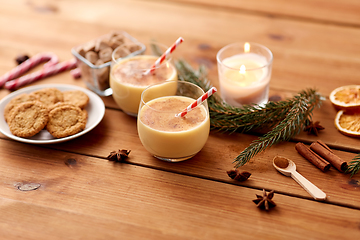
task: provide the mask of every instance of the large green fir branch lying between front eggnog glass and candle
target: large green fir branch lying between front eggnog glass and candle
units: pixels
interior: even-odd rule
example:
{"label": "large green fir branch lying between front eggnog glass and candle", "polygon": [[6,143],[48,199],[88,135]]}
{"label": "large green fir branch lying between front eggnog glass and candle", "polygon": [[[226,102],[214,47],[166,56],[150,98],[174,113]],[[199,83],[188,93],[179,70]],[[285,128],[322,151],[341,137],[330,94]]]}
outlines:
{"label": "large green fir branch lying between front eggnog glass and candle", "polygon": [[[176,63],[179,80],[192,82],[204,91],[211,88],[206,79],[206,71],[195,71],[185,61]],[[264,106],[244,105],[241,108],[225,103],[218,95],[208,99],[210,124],[213,130],[224,132],[249,132],[271,129],[259,139],[253,141],[235,159],[235,167],[247,163],[252,157],[268,147],[282,141],[288,141],[299,134],[311,120],[312,111],[320,107],[321,96],[313,89],[301,91],[292,99],[268,102]]]}

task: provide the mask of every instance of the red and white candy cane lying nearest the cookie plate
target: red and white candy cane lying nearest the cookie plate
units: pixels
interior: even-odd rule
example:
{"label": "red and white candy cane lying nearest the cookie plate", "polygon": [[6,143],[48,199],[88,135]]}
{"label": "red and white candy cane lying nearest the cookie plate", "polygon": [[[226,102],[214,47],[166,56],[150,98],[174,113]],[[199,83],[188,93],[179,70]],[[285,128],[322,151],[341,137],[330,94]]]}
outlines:
{"label": "red and white candy cane lying nearest the cookie plate", "polygon": [[17,89],[23,85],[35,82],[39,79],[55,75],[57,73],[76,68],[76,59],[71,59],[65,62],[58,63],[56,65],[46,67],[40,71],[34,72],[32,74],[25,75],[23,77],[8,81],[5,83],[5,88],[9,90]]}

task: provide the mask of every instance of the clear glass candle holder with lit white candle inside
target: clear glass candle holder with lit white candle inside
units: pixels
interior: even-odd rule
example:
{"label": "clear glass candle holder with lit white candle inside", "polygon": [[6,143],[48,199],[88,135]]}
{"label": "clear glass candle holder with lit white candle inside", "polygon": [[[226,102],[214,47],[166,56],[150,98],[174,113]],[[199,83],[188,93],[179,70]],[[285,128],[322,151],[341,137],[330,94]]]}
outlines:
{"label": "clear glass candle holder with lit white candle inside", "polygon": [[222,99],[241,107],[268,102],[273,55],[257,43],[232,43],[217,53]]}

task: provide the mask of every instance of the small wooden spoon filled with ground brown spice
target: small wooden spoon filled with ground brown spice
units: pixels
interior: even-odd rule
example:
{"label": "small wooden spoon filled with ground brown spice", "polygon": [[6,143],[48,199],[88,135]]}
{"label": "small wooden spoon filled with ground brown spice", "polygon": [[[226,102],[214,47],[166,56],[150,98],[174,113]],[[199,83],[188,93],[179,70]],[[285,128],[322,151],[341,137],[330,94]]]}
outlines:
{"label": "small wooden spoon filled with ground brown spice", "polygon": [[296,165],[290,159],[285,157],[276,156],[273,159],[273,166],[284,174],[285,176],[291,176],[300,186],[302,186],[315,200],[325,200],[326,193],[321,191],[318,187],[312,184],[309,180],[304,178],[300,173],[296,171]]}

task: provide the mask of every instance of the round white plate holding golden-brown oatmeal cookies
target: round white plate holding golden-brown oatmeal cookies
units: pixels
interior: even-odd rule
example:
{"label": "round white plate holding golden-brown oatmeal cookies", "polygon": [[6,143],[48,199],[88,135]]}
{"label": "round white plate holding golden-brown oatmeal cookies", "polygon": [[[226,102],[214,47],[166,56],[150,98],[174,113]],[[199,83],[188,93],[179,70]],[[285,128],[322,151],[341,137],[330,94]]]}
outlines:
{"label": "round white plate holding golden-brown oatmeal cookies", "polygon": [[36,85],[15,91],[0,101],[0,131],[15,140],[47,144],[81,136],[102,120],[103,101],[73,85]]}

